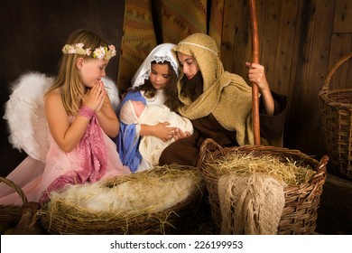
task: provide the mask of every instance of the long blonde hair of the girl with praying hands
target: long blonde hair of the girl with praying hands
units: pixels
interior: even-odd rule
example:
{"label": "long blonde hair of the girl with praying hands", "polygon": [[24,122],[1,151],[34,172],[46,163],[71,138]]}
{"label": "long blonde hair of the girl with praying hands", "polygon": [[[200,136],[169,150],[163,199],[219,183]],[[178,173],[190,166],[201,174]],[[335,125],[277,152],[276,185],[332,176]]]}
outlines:
{"label": "long blonde hair of the girl with praying hands", "polygon": [[[84,43],[87,48],[97,48],[99,46],[107,46],[102,38],[96,33],[91,33],[87,30],[79,29],[70,34],[67,41],[68,44]],[[79,69],[76,66],[76,62],[79,58],[83,58],[86,61],[92,59],[88,55],[79,54],[63,54],[60,59],[59,72],[50,92],[53,89],[62,87],[62,103],[66,112],[75,116],[82,104],[82,100],[87,91],[82,85],[82,80],[79,76]]]}

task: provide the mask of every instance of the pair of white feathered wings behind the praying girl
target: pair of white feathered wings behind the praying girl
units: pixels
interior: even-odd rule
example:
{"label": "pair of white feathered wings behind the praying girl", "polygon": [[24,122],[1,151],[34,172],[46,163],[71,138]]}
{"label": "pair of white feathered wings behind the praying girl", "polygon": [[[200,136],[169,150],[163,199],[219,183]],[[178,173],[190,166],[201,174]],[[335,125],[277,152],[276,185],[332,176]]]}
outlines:
{"label": "pair of white feathered wings behind the praying girl", "polygon": [[[114,109],[119,104],[115,83],[102,79]],[[9,128],[9,143],[19,151],[45,163],[49,148],[49,126],[44,111],[44,94],[54,79],[39,72],[23,74],[11,85],[12,94],[5,103],[4,119]]]}

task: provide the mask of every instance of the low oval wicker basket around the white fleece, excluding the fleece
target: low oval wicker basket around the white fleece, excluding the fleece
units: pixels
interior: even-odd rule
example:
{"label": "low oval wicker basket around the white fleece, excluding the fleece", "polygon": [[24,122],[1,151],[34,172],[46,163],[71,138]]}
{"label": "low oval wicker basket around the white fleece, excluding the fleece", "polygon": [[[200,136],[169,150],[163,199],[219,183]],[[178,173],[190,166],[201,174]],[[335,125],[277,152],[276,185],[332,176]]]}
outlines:
{"label": "low oval wicker basket around the white fleece, excluding the fleece", "polygon": [[[147,176],[163,179],[163,170],[153,169],[142,172]],[[42,226],[51,234],[184,234],[190,230],[192,219],[199,211],[205,186],[199,170],[190,166],[178,166],[176,176],[192,171],[197,189],[183,201],[175,203],[162,211],[89,211],[77,206],[69,206],[67,202],[60,205],[57,211],[51,211],[49,202],[42,206]],[[118,183],[135,180],[134,174],[120,176]],[[118,184],[117,183],[117,184]],[[116,183],[114,183],[116,184]],[[108,185],[107,187],[114,187]],[[148,186],[145,187],[148,191]],[[157,197],[157,196],[155,196]]]}

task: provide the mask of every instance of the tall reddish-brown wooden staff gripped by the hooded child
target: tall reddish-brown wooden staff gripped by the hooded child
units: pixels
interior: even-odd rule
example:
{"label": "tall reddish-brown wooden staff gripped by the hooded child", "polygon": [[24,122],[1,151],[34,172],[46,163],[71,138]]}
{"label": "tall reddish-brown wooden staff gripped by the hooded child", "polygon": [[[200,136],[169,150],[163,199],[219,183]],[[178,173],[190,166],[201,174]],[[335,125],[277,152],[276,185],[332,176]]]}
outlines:
{"label": "tall reddish-brown wooden staff gripped by the hooded child", "polygon": [[[249,9],[251,12],[251,30],[252,30],[252,56],[254,63],[259,63],[259,39],[258,27],[255,14],[255,0],[249,0]],[[252,84],[252,108],[253,108],[253,129],[255,134],[255,145],[260,145],[260,125],[259,125],[259,98],[258,86]]]}

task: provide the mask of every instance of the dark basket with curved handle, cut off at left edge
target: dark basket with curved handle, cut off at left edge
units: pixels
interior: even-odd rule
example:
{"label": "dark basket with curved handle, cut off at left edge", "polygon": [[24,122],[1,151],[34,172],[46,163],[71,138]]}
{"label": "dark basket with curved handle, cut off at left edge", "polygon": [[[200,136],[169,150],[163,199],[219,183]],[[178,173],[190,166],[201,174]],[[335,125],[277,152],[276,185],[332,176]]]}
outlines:
{"label": "dark basket with curved handle, cut off at left edge", "polygon": [[[0,177],[0,182],[7,184],[8,186],[14,188],[14,190],[20,195],[23,204],[27,202],[27,197],[24,192],[17,184],[11,180]],[[23,207],[18,205],[0,205],[0,222],[12,222],[17,224],[22,216]]]}

